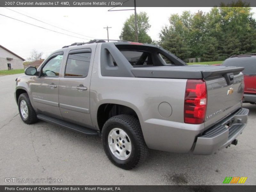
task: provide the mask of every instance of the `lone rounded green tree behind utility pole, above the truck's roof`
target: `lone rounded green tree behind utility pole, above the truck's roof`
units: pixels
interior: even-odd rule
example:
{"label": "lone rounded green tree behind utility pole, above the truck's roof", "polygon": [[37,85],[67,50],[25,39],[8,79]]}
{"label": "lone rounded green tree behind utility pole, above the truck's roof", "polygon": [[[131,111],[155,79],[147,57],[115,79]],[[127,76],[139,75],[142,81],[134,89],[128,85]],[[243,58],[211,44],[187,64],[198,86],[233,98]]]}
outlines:
{"label": "lone rounded green tree behind utility pole, above the truck's roof", "polygon": [[[147,34],[151,25],[149,24],[148,15],[146,12],[140,12],[137,14],[137,25],[138,25],[138,41],[140,43],[148,43],[152,42],[151,37]],[[133,41],[135,42],[135,17],[134,14],[130,15],[124,22],[124,26],[121,31],[121,35],[119,36],[121,40]]]}

